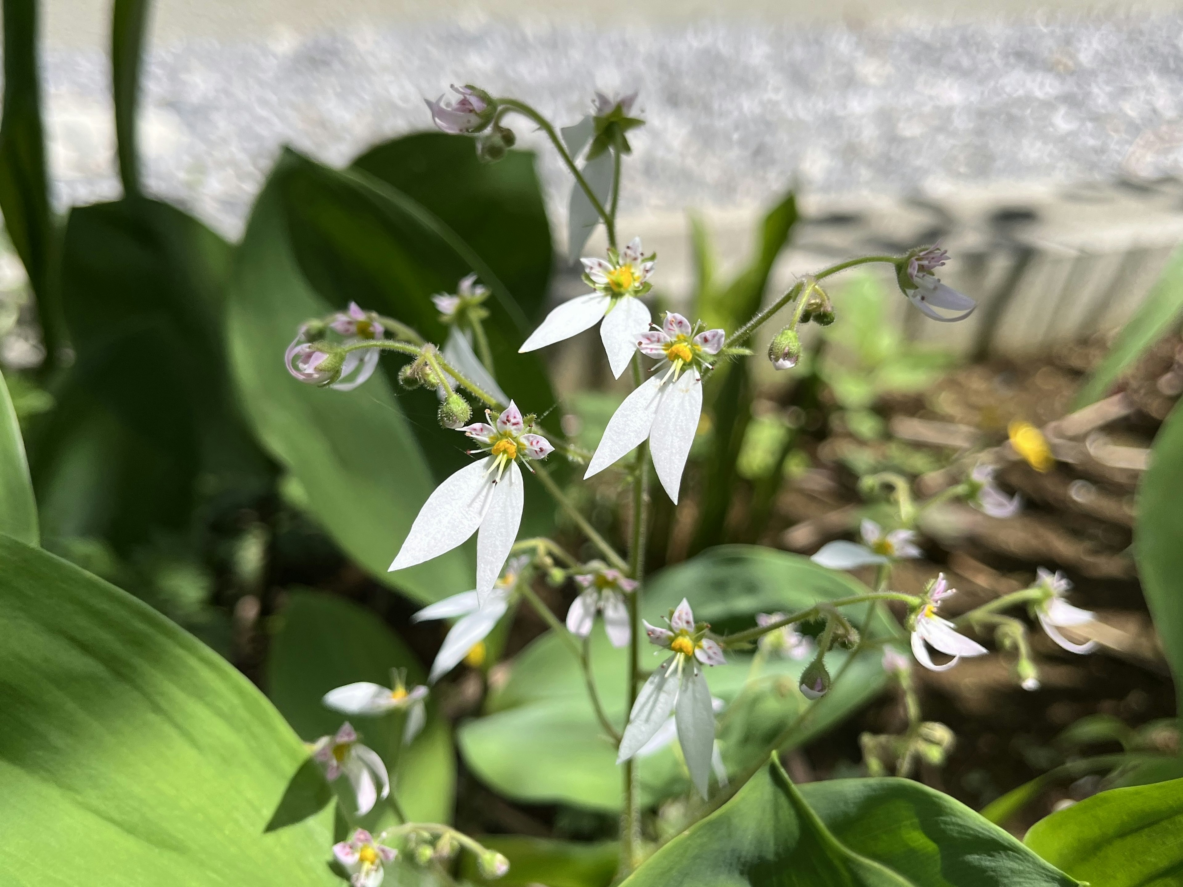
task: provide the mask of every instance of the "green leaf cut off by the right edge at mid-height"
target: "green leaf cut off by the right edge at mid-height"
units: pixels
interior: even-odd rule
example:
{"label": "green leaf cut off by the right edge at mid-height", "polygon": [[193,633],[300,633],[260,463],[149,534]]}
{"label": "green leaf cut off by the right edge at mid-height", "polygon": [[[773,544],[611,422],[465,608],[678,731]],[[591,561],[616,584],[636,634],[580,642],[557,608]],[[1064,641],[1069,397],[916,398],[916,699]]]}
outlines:
{"label": "green leaf cut off by the right edge at mid-height", "polygon": [[1176,697],[1183,706],[1183,595],[1179,594],[1183,509],[1178,506],[1179,490],[1183,490],[1183,408],[1176,407],[1155,438],[1150,470],[1138,493],[1133,542],[1146,606],[1175,676]]}

